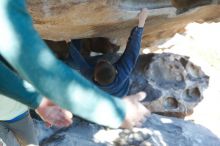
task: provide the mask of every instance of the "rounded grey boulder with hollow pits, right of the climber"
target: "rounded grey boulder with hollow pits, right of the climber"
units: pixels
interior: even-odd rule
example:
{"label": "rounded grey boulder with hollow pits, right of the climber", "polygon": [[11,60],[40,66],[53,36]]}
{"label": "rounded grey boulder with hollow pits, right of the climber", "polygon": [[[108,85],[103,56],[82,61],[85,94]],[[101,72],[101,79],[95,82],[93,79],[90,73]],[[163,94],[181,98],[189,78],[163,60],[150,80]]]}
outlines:
{"label": "rounded grey boulder with hollow pits, right of the climber", "polygon": [[141,55],[131,76],[130,93],[145,91],[152,112],[185,117],[203,99],[209,77],[186,56]]}

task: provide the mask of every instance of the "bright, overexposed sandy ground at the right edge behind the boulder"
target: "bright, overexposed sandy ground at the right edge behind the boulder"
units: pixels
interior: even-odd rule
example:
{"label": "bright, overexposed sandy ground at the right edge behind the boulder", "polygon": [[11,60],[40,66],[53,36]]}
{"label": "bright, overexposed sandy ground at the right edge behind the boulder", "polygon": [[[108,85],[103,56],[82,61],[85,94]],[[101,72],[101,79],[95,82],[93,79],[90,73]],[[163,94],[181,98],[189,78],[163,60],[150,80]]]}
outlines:
{"label": "bright, overexposed sandy ground at the right edge behind the boulder", "polygon": [[[220,23],[191,23],[184,34],[176,34],[157,52],[186,55],[210,76],[204,99],[186,119],[194,120],[220,137]],[[169,48],[169,49],[167,49]]]}

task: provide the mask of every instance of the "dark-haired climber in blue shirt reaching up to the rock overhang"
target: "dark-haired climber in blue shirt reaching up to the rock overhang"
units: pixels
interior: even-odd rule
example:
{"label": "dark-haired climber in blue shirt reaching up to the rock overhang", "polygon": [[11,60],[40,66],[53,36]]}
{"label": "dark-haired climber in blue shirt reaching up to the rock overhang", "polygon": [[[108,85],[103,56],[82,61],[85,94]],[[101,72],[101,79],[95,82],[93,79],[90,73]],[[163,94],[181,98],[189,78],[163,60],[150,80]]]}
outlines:
{"label": "dark-haired climber in blue shirt reaching up to the rock overhang", "polygon": [[78,51],[80,42],[74,40],[70,42],[69,56],[65,62],[107,93],[119,97],[126,96],[129,90],[129,76],[139,56],[147,15],[147,9],[139,13],[139,24],[132,29],[125,52],[116,63],[99,60],[95,66],[88,64]]}

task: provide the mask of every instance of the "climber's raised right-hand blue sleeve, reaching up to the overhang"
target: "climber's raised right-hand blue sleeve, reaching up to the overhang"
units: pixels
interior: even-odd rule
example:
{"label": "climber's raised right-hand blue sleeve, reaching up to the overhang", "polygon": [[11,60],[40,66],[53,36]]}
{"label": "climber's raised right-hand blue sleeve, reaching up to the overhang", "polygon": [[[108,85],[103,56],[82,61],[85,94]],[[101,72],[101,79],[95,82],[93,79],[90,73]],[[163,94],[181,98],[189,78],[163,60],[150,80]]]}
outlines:
{"label": "climber's raised right-hand blue sleeve, reaching up to the overhang", "polygon": [[126,49],[120,59],[115,63],[118,71],[118,78],[127,79],[135,67],[141,48],[142,33],[143,28],[135,27],[132,29]]}

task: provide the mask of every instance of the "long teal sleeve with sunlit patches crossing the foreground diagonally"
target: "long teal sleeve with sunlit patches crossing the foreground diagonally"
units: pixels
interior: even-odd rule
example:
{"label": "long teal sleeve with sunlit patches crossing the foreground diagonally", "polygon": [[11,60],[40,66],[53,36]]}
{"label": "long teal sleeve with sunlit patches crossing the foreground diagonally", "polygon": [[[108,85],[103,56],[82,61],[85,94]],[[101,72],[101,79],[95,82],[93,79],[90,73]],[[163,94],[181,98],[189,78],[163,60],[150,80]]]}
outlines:
{"label": "long teal sleeve with sunlit patches crossing the foreground diagonally", "polygon": [[33,28],[25,0],[1,0],[0,22],[1,55],[41,94],[89,121],[112,128],[121,125],[124,101],[99,90],[55,58]]}

